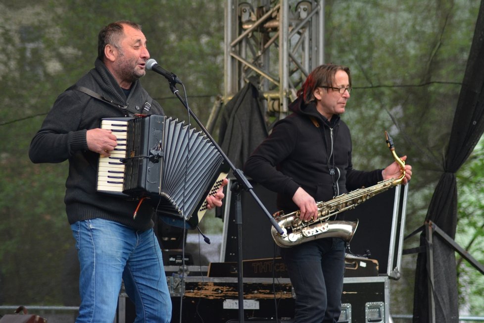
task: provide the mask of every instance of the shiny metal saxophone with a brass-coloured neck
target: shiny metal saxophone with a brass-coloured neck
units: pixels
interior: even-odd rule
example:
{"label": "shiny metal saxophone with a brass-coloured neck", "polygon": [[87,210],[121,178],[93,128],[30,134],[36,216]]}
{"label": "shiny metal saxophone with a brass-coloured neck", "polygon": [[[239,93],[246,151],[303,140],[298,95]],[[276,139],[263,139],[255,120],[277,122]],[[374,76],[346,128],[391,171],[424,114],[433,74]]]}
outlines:
{"label": "shiny metal saxophone with a brass-coloured neck", "polygon": [[385,137],[393,159],[400,166],[400,177],[389,178],[378,182],[374,186],[357,189],[339,195],[326,202],[318,202],[318,218],[316,220],[301,220],[299,218],[299,210],[287,215],[284,214],[284,211],[274,213],[272,216],[284,231],[283,234],[279,234],[275,227],[271,228],[272,238],[276,244],[282,248],[288,248],[310,240],[330,237],[341,238],[349,242],[356,231],[358,220],[329,221],[328,218],[343,211],[354,209],[357,205],[371,199],[375,195],[385,192],[393,186],[400,185],[403,182],[403,178],[405,178],[405,162],[396,155],[393,140],[388,135],[387,131],[385,131]]}

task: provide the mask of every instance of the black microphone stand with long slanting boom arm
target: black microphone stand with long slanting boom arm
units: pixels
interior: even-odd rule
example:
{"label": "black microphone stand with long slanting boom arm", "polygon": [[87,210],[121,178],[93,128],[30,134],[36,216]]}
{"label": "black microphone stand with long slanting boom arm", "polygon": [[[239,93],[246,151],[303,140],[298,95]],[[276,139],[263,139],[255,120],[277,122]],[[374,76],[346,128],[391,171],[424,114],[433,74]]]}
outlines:
{"label": "black microphone stand with long slanting boom arm", "polygon": [[[236,183],[233,185],[232,191],[236,193],[236,222],[237,222],[237,240],[238,240],[238,274],[237,274],[237,280],[238,280],[238,285],[239,285],[239,323],[244,322],[244,317],[243,317],[243,275],[242,275],[242,203],[241,203],[241,191],[244,189],[245,191],[249,192],[252,198],[255,200],[257,205],[260,207],[262,212],[267,216],[269,221],[271,222],[272,226],[277,230],[279,234],[284,234],[283,229],[279,226],[279,224],[276,222],[274,217],[267,211],[266,207],[262,204],[260,199],[257,197],[257,195],[254,192],[254,189],[252,185],[249,183],[247,178],[244,176],[242,170],[238,169],[235,167],[234,163],[229,160],[227,155],[222,151],[220,146],[215,142],[213,137],[210,135],[208,130],[203,126],[203,124],[200,122],[198,117],[195,115],[195,113],[192,111],[192,109],[188,106],[188,103],[181,97],[180,91],[176,88],[176,84],[182,82],[177,82],[180,81],[178,80],[177,76],[175,74],[172,74],[172,77],[166,77],[165,78],[168,80],[168,83],[170,83],[170,90],[173,92],[173,94],[180,100],[180,102],[183,104],[185,108],[187,108],[188,112],[190,115],[195,119],[196,123],[202,129],[202,131],[205,133],[207,138],[212,142],[212,144],[215,146],[217,151],[220,153],[222,158],[227,162],[229,165],[230,169],[232,169],[232,172],[237,180]],[[183,84],[182,84],[183,85]]]}

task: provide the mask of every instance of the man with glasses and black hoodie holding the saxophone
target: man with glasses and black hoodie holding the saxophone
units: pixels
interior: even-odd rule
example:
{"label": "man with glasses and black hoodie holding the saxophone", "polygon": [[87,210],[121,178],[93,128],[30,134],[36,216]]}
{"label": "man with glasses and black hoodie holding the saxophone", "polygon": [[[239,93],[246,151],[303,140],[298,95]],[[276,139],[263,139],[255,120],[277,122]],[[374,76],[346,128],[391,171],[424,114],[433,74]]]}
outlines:
{"label": "man with glasses and black hoodie holding the saxophone", "polygon": [[[402,184],[410,180],[412,167],[404,163],[406,156],[383,170],[352,168],[350,131],[339,117],[350,92],[349,68],[335,64],[315,68],[290,104],[292,113],[276,123],[245,163],[246,175],[278,193],[277,206],[285,213],[300,210],[301,220],[316,220],[317,201],[390,178],[403,176]],[[339,237],[281,249],[296,294],[295,322],[338,322],[344,255],[345,242]]]}

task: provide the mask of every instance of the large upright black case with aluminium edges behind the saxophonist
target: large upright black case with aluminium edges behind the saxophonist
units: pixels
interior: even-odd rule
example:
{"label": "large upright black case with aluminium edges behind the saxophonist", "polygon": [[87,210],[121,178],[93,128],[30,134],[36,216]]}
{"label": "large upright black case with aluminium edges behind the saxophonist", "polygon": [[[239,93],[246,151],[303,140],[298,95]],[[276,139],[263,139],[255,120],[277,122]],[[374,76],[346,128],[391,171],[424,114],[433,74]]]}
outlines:
{"label": "large upright black case with aluminium edges behind the saxophonist", "polygon": [[[227,186],[221,262],[238,261],[235,197],[230,190],[233,182],[233,179],[229,179]],[[251,185],[269,213],[278,211],[276,193],[253,181]],[[401,269],[407,192],[408,184],[395,186],[341,215],[345,220],[359,220],[349,243],[350,252],[376,259],[379,274],[395,279],[399,278]],[[248,192],[241,193],[241,207],[242,260],[273,258],[277,251],[270,233],[271,222]]]}

